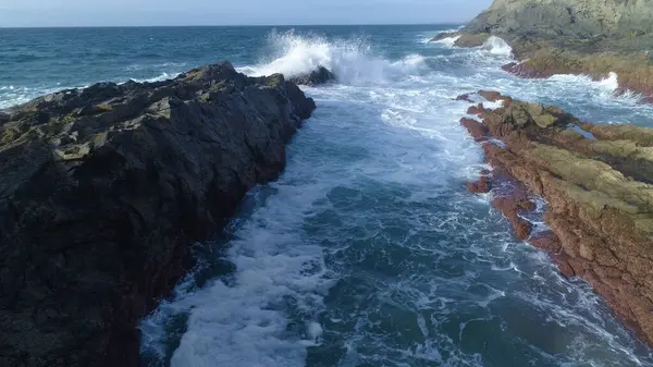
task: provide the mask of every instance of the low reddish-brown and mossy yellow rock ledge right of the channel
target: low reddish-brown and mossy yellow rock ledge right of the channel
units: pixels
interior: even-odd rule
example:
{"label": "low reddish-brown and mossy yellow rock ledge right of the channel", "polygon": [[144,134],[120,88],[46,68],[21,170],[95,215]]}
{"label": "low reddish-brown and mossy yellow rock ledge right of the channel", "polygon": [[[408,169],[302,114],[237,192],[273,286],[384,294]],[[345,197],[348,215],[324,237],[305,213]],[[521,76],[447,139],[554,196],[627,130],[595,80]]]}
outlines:
{"label": "low reddish-brown and mossy yellow rock ledge right of the channel", "polygon": [[[653,130],[581,123],[555,107],[482,95],[503,107],[472,106],[468,112],[482,122],[461,123],[493,167],[492,204],[519,238],[549,250],[566,276],[587,280],[653,343]],[[525,223],[533,196],[549,203],[547,232]]]}

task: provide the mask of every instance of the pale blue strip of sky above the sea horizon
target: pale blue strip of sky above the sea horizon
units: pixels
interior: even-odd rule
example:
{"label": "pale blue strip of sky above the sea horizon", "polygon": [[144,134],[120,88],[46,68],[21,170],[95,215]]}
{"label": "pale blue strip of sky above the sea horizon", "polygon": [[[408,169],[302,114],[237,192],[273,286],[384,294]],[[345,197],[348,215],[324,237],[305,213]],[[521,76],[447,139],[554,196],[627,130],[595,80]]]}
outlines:
{"label": "pale blue strip of sky above the sea horizon", "polygon": [[0,0],[0,27],[460,23],[492,0]]}

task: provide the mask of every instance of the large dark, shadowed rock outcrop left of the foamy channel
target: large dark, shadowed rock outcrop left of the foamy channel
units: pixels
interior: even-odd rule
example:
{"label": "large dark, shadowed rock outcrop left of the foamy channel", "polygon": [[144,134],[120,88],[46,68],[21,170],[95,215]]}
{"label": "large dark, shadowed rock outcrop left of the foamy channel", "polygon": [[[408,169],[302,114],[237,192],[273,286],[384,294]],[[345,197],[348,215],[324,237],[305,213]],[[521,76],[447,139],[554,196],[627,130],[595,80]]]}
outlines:
{"label": "large dark, shadowed rock outcrop left of the foamy channel", "polygon": [[103,83],[0,125],[0,366],[137,366],[136,322],[315,109],[226,63]]}

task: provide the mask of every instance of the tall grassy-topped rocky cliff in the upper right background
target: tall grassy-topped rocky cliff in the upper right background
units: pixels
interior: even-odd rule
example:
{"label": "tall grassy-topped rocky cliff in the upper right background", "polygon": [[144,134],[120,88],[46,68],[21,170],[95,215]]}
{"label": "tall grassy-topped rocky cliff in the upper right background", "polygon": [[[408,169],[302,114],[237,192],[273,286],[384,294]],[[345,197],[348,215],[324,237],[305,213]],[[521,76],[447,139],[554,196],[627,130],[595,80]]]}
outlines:
{"label": "tall grassy-topped rocky cliff in the upper right background", "polygon": [[[475,47],[504,38],[523,62],[507,71],[525,77],[616,72],[623,88],[653,101],[653,2],[649,0],[495,0],[459,35]],[[446,35],[440,35],[445,37]]]}

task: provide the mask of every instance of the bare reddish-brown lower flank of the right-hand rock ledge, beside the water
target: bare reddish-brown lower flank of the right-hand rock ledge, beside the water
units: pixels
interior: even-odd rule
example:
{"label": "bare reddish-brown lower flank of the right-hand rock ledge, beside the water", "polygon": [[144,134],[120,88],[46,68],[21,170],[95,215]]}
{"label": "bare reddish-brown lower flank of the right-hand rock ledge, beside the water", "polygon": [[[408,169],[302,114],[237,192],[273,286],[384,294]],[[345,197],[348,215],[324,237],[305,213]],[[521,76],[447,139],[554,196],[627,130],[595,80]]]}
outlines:
{"label": "bare reddish-brown lower flank of the right-hand rock ledge, beside the water", "polygon": [[[565,277],[588,281],[625,325],[653,344],[650,297],[653,294],[653,242],[639,232],[627,213],[608,206],[589,210],[587,203],[569,196],[567,186],[560,184],[564,178],[550,171],[553,170],[550,161],[530,154],[538,146],[550,145],[591,157],[589,142],[564,134],[564,126],[540,129],[534,124],[514,124],[514,108],[525,105],[496,93],[485,95],[489,100],[504,99],[504,107],[489,110],[482,105],[472,106],[468,113],[481,117],[482,123],[468,119],[461,124],[475,138],[482,135],[484,139],[497,138],[505,144],[505,147],[490,143],[482,146],[486,161],[494,168],[492,205],[510,221],[515,236],[525,240],[532,229],[520,215],[534,208],[529,193],[543,196],[549,201],[544,221],[551,231],[539,233],[529,242],[553,254],[553,260]],[[546,111],[556,117],[564,113],[549,107]],[[623,134],[611,127],[568,119],[599,139],[623,139]],[[609,163],[619,169],[619,161]],[[479,182],[471,183],[469,188],[476,191],[479,186]]]}

